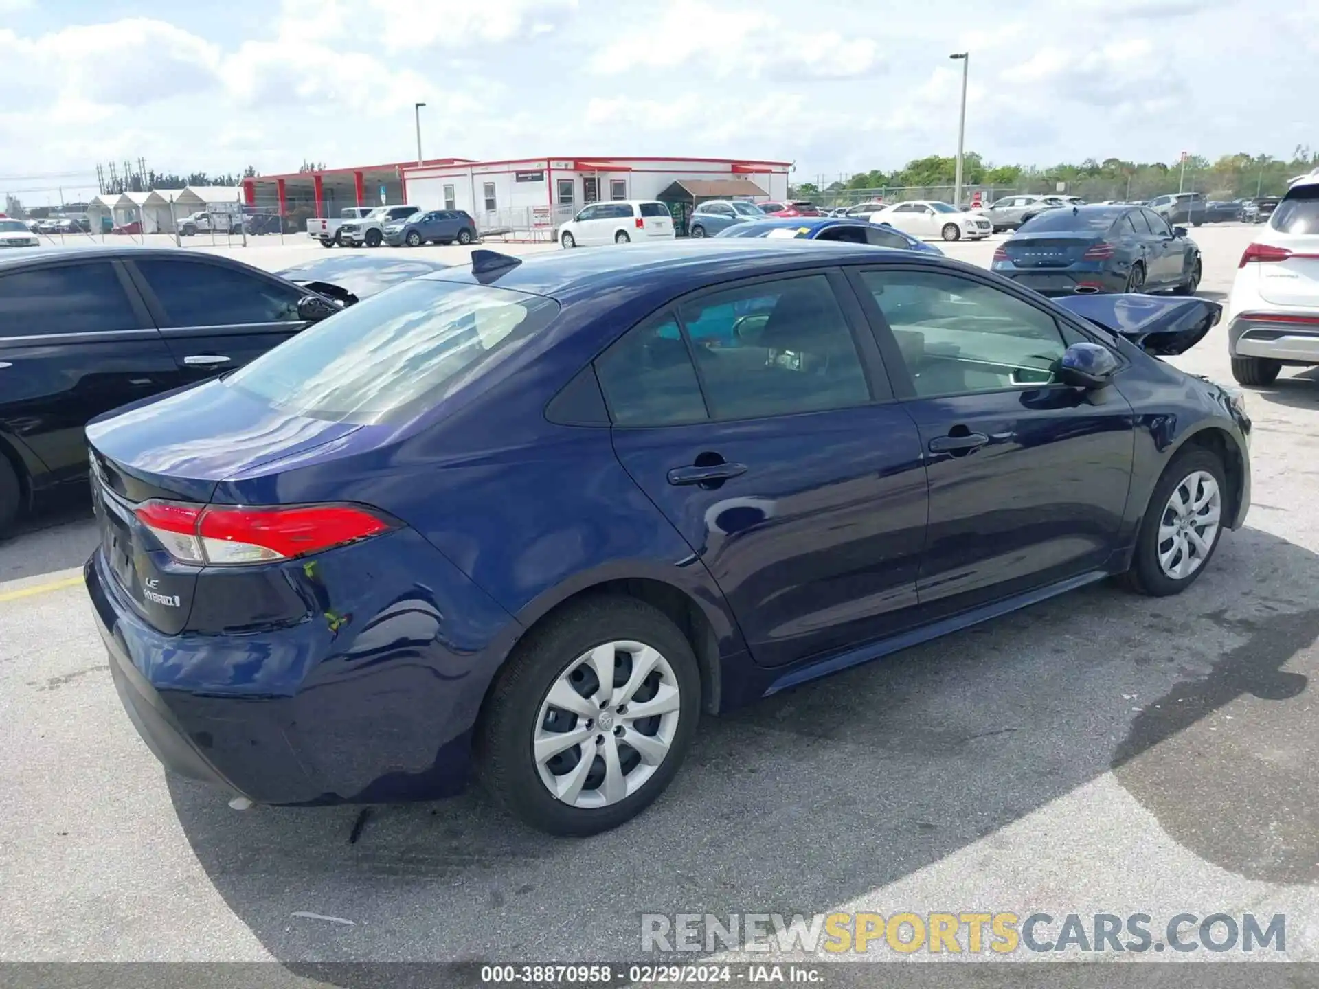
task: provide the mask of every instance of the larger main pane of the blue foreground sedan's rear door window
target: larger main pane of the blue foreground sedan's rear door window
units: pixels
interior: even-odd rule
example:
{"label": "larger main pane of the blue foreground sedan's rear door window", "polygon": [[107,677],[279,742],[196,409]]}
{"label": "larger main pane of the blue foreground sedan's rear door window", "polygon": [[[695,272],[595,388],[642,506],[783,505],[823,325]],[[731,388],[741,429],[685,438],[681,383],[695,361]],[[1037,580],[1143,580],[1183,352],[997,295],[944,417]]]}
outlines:
{"label": "larger main pane of the blue foreground sedan's rear door window", "polygon": [[715,418],[871,401],[852,332],[823,274],[703,295],[683,303],[679,315]]}

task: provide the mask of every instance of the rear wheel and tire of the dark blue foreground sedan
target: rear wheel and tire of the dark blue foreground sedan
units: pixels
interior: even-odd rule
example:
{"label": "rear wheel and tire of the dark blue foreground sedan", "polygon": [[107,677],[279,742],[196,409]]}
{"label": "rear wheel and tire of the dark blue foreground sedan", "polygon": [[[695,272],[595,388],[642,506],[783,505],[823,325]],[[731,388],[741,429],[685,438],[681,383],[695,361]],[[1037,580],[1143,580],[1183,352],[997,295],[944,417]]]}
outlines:
{"label": "rear wheel and tire of the dark blue foreground sedan", "polygon": [[699,712],[696,658],[663,613],[632,597],[583,600],[533,629],[501,670],[477,732],[480,779],[539,831],[608,831],[669,785]]}

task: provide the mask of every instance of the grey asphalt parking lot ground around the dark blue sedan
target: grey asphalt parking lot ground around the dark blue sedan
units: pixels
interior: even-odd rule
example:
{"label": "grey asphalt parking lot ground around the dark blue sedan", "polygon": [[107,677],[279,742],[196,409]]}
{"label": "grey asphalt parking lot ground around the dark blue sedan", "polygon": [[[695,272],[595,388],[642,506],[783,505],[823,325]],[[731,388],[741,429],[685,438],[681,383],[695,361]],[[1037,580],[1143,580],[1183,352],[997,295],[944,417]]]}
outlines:
{"label": "grey asphalt parking lot ground around the dark blue sedan", "polygon": [[[1250,229],[1194,236],[1224,299]],[[993,243],[946,247],[988,264]],[[1231,381],[1225,328],[1174,363]],[[1254,504],[1186,595],[1093,585],[706,717],[657,804],[588,840],[477,795],[235,811],[168,778],[111,684],[71,494],[0,542],[0,961],[277,960],[356,985],[313,963],[625,960],[644,913],[739,911],[1285,914],[1282,953],[1177,957],[1319,960],[1319,375],[1248,409]]]}

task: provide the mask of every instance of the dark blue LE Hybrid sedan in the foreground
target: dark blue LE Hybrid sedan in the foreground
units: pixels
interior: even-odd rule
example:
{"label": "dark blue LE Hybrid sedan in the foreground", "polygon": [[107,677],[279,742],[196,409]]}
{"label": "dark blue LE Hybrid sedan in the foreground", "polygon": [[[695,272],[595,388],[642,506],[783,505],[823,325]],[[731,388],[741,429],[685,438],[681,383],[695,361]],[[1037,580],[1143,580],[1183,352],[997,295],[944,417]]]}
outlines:
{"label": "dark blue LE Hybrid sedan in the foreground", "polygon": [[1111,575],[1182,592],[1250,422],[1154,355],[1219,306],[1075,302],[845,244],[476,251],[87,427],[120,699],[253,802],[475,770],[590,835],[703,713]]}

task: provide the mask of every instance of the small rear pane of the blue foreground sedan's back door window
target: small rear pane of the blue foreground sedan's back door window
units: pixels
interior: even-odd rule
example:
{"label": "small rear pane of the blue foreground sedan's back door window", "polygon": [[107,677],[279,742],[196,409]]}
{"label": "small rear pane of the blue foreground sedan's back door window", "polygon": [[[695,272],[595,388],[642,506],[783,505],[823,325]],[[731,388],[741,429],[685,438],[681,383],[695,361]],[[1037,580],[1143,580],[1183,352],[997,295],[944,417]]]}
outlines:
{"label": "small rear pane of the blue foreground sedan's back door window", "polygon": [[642,323],[595,361],[617,426],[675,426],[706,419],[691,353],[673,315]]}

